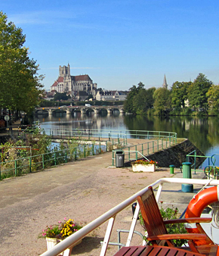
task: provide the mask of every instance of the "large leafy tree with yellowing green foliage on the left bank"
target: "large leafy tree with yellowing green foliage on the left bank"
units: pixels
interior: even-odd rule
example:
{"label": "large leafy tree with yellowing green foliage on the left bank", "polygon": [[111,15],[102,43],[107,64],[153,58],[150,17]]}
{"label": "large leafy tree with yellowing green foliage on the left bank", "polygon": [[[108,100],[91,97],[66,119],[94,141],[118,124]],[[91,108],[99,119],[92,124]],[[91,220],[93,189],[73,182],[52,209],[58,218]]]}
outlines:
{"label": "large leafy tree with yellowing green foliage on the left bank", "polygon": [[0,12],[0,108],[31,112],[43,94],[36,61],[23,46],[26,36]]}

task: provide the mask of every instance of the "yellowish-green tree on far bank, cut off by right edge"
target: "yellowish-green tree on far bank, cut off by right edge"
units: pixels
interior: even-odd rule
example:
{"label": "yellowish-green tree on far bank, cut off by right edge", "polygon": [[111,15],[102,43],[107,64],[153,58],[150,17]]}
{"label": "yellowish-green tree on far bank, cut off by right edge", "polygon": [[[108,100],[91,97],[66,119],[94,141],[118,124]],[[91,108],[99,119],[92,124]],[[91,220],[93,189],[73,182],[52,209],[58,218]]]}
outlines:
{"label": "yellowish-green tree on far bank, cut off by right edge", "polygon": [[211,114],[218,114],[219,111],[219,85],[211,86],[206,93],[208,97],[208,107],[211,108]]}

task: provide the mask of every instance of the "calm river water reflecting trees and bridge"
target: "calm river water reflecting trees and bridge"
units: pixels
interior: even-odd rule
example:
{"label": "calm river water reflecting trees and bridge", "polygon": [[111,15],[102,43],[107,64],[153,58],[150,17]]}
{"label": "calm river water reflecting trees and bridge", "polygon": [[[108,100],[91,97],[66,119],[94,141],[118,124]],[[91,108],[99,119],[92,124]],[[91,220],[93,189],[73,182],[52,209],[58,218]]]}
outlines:
{"label": "calm river water reflecting trees and bridge", "polygon": [[[41,127],[47,129],[100,129],[100,130],[150,130],[177,133],[177,138],[187,138],[205,155],[219,154],[218,118],[208,117],[133,117],[115,111],[109,114],[73,114],[55,113],[52,116],[40,114],[35,116]],[[219,156],[215,156],[219,165]],[[208,165],[206,160],[203,167]]]}

